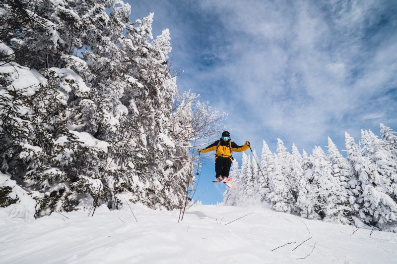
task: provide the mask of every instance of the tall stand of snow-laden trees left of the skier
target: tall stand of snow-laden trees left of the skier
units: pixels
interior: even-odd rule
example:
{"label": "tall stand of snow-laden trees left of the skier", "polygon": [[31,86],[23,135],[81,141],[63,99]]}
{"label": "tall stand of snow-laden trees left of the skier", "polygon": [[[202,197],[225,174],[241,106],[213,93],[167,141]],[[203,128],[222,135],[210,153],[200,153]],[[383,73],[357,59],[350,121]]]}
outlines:
{"label": "tall stand of snow-laden trees left of the skier", "polygon": [[0,206],[18,188],[36,215],[181,206],[192,142],[225,114],[178,92],[168,29],[153,39],[153,13],[130,13],[119,0],[1,1]]}

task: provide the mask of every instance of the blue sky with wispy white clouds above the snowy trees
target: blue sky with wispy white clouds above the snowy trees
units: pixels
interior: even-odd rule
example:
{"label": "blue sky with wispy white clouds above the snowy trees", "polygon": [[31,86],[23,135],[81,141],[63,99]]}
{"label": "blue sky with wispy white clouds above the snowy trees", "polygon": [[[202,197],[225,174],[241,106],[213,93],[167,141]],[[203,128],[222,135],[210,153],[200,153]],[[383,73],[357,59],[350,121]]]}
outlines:
{"label": "blue sky with wispy white clouds above the snowy trees", "polygon": [[[397,131],[397,5],[391,0],[128,0],[131,20],[154,12],[153,36],[170,30],[173,65],[219,111],[237,144],[261,152],[344,150],[344,132]],[[246,154],[251,154],[248,150]],[[343,153],[342,153],[343,154]],[[235,155],[241,164],[241,154]],[[198,193],[222,201],[213,164]],[[218,186],[219,187],[219,186]]]}

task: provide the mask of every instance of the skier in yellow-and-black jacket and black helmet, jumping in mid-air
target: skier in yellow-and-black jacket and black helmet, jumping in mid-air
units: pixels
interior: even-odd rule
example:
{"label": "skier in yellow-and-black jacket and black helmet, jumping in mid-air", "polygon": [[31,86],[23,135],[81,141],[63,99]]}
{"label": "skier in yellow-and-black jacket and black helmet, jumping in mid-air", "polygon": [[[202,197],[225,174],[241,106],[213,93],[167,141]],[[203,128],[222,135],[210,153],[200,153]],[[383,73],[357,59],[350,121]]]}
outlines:
{"label": "skier in yellow-and-black jacket and black helmet, jumping in mid-air", "polygon": [[248,150],[250,142],[246,141],[244,146],[238,146],[236,143],[230,141],[230,133],[223,131],[222,137],[206,147],[199,149],[199,153],[207,153],[215,151],[215,177],[218,181],[225,181],[229,177],[230,166],[233,162],[233,151],[243,152]]}

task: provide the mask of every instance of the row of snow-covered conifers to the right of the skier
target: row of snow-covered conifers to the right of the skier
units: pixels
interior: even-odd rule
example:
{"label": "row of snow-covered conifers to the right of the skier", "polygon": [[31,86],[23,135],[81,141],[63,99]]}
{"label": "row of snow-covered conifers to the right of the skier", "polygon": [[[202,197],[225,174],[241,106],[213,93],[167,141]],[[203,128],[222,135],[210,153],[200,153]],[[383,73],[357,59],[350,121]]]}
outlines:
{"label": "row of snow-covered conifers to the right of the skier", "polygon": [[280,139],[272,154],[264,141],[260,166],[265,177],[254,157],[243,154],[241,169],[236,162],[231,172],[240,188],[228,189],[224,202],[239,206],[268,202],[276,211],[341,223],[357,217],[365,224],[397,232],[391,227],[397,223],[394,133],[381,124],[381,138],[362,130],[358,144],[345,133],[346,158],[330,138],[327,153],[315,147],[310,156],[304,150],[301,155],[295,145],[287,152]]}

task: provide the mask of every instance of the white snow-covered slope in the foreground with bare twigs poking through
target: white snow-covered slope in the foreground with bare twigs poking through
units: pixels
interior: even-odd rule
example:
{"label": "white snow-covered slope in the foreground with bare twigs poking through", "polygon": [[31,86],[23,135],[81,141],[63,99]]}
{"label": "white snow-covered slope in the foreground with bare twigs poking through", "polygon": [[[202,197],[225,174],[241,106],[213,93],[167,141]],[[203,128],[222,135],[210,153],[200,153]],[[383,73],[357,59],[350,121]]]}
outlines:
{"label": "white snow-covered slope in the foreground with bare twigs poking through", "polygon": [[92,217],[54,212],[36,220],[19,218],[13,206],[0,209],[2,264],[397,263],[396,233],[370,238],[368,229],[353,234],[356,227],[264,207],[195,206],[178,223],[179,211],[131,203],[133,214],[103,206]]}

